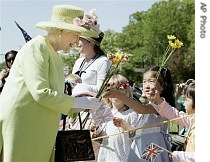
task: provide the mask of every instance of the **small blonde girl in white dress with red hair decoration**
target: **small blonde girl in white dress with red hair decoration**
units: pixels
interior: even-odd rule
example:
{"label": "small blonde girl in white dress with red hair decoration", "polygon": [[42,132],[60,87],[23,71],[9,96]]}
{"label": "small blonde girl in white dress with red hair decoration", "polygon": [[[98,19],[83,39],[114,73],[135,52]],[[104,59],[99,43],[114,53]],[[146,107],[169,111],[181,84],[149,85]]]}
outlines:
{"label": "small blonde girl in white dress with red hair decoration", "polygon": [[[116,91],[122,95],[125,95],[127,98],[132,99],[131,87],[127,78],[124,76],[117,74],[113,75],[109,82],[108,88],[114,88]],[[119,127],[115,127],[113,124],[113,117],[122,118],[130,125],[134,126],[137,122],[138,114],[126,106],[121,100],[117,97],[106,98],[104,99],[106,103],[106,108],[100,108],[96,111],[95,114],[92,114],[93,121],[100,125],[97,129],[97,133],[100,135],[111,135],[115,133],[121,132],[123,129]],[[106,118],[110,119],[109,121],[98,123],[99,116],[101,114],[100,111],[104,112],[104,109],[108,109],[110,112],[109,117]],[[109,114],[108,111],[105,111],[106,114]],[[103,113],[104,115],[105,113]],[[106,114],[104,116],[106,116]],[[98,120],[97,120],[98,118]],[[132,143],[132,139],[129,138],[128,134],[122,134],[117,136],[109,136],[108,138],[103,138],[99,153],[98,153],[98,160],[97,162],[127,162],[128,154],[130,151],[130,146]]]}

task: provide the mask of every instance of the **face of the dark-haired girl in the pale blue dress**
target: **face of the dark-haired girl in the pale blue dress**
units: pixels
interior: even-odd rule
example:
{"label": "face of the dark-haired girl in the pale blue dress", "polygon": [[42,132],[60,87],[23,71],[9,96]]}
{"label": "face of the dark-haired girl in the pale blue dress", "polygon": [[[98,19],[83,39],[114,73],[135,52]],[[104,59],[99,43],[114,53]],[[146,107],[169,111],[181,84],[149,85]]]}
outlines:
{"label": "face of the dark-haired girl in the pale blue dress", "polygon": [[156,73],[157,72],[154,71],[148,71],[144,73],[143,76],[143,91],[148,99],[152,97],[151,95],[153,93],[152,89],[155,88],[157,91],[160,92],[160,94],[163,90],[163,87],[160,85],[160,83],[156,81]]}

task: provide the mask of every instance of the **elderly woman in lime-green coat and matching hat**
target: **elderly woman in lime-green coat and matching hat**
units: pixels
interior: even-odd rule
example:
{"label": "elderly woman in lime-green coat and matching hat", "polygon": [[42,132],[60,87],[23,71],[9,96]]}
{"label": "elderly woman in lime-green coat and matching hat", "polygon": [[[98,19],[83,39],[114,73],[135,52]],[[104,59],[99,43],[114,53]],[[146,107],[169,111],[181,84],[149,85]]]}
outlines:
{"label": "elderly woman in lime-green coat and matching hat", "polygon": [[18,52],[0,98],[0,161],[54,161],[60,114],[101,106],[96,98],[63,93],[63,63],[57,51],[69,51],[81,34],[98,36],[88,24],[74,23],[83,15],[76,6],[54,6],[51,21],[36,24],[47,36],[33,38]]}

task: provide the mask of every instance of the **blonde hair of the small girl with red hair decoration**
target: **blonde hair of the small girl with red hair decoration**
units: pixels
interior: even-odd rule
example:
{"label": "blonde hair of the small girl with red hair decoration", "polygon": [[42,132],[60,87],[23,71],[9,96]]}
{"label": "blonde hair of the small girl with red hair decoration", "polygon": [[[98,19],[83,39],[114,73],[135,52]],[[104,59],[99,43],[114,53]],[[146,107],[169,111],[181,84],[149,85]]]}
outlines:
{"label": "blonde hair of the small girl with red hair decoration", "polygon": [[[113,75],[108,82],[108,87],[111,89],[112,88],[124,89],[125,90],[124,94],[127,97],[133,98],[133,93],[131,86],[129,85],[129,81],[126,77],[124,77],[121,74]],[[112,103],[110,101],[110,98],[104,98],[103,101],[108,107],[112,108]]]}

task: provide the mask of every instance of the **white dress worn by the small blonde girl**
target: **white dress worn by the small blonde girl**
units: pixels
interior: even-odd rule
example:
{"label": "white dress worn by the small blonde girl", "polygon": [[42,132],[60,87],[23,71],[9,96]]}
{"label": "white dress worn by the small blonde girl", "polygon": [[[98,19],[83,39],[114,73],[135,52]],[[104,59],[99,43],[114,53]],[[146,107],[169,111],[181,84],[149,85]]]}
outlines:
{"label": "white dress worn by the small blonde girl", "polygon": [[[138,120],[138,114],[132,109],[123,112],[112,110],[112,113],[114,117],[122,118],[132,126]],[[123,131],[123,128],[114,126],[112,120],[103,123],[102,128],[102,135],[112,135]],[[132,139],[129,138],[128,133],[104,138],[100,146],[97,162],[127,162],[131,143]]]}

